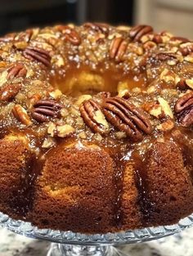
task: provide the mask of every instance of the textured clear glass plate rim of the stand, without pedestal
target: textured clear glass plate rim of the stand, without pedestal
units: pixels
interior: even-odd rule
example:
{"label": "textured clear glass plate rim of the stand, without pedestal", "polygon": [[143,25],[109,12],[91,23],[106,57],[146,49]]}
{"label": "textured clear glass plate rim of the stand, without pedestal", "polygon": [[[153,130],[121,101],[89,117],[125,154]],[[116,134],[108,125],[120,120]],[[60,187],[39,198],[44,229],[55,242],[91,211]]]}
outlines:
{"label": "textured clear glass plate rim of the stand, without pedestal", "polygon": [[51,229],[38,229],[30,222],[13,220],[0,212],[0,227],[6,227],[16,234],[38,240],[47,240],[66,245],[126,245],[142,241],[155,240],[164,236],[171,236],[186,228],[193,227],[193,214],[183,218],[175,225],[163,227],[148,227],[134,231],[121,231],[118,233],[85,235],[72,231],[53,231]]}

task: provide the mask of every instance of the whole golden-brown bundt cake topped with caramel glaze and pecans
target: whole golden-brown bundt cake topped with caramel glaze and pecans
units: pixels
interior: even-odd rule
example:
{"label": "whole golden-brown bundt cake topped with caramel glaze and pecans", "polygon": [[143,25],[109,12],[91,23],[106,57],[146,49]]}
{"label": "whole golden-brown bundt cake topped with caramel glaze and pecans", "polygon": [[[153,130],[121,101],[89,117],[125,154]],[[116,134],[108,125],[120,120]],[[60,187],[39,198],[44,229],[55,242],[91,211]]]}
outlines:
{"label": "whole golden-brown bundt cake topped with caramel glaze and pecans", "polygon": [[0,211],[83,233],[193,213],[193,42],[86,23],[0,38]]}

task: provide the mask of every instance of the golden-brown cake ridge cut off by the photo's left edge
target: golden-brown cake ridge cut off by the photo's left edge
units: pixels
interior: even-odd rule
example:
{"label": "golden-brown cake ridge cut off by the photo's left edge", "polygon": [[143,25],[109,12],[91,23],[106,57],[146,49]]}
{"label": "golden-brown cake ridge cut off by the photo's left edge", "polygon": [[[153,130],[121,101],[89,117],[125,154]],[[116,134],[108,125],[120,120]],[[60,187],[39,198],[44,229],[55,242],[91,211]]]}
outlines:
{"label": "golden-brown cake ridge cut off by the photo's left edge", "polygon": [[14,218],[24,218],[29,210],[25,184],[31,153],[28,141],[20,136],[0,141],[0,209]]}

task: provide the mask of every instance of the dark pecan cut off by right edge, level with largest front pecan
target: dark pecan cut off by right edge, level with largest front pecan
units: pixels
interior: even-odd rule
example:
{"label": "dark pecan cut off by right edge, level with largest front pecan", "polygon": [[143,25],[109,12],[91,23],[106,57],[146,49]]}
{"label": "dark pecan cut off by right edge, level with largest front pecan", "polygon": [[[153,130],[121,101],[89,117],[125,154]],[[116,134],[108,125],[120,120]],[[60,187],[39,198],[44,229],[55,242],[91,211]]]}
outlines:
{"label": "dark pecan cut off by right edge, level with largest front pecan", "polygon": [[193,124],[193,92],[185,94],[177,101],[175,112],[182,126],[189,127]]}

